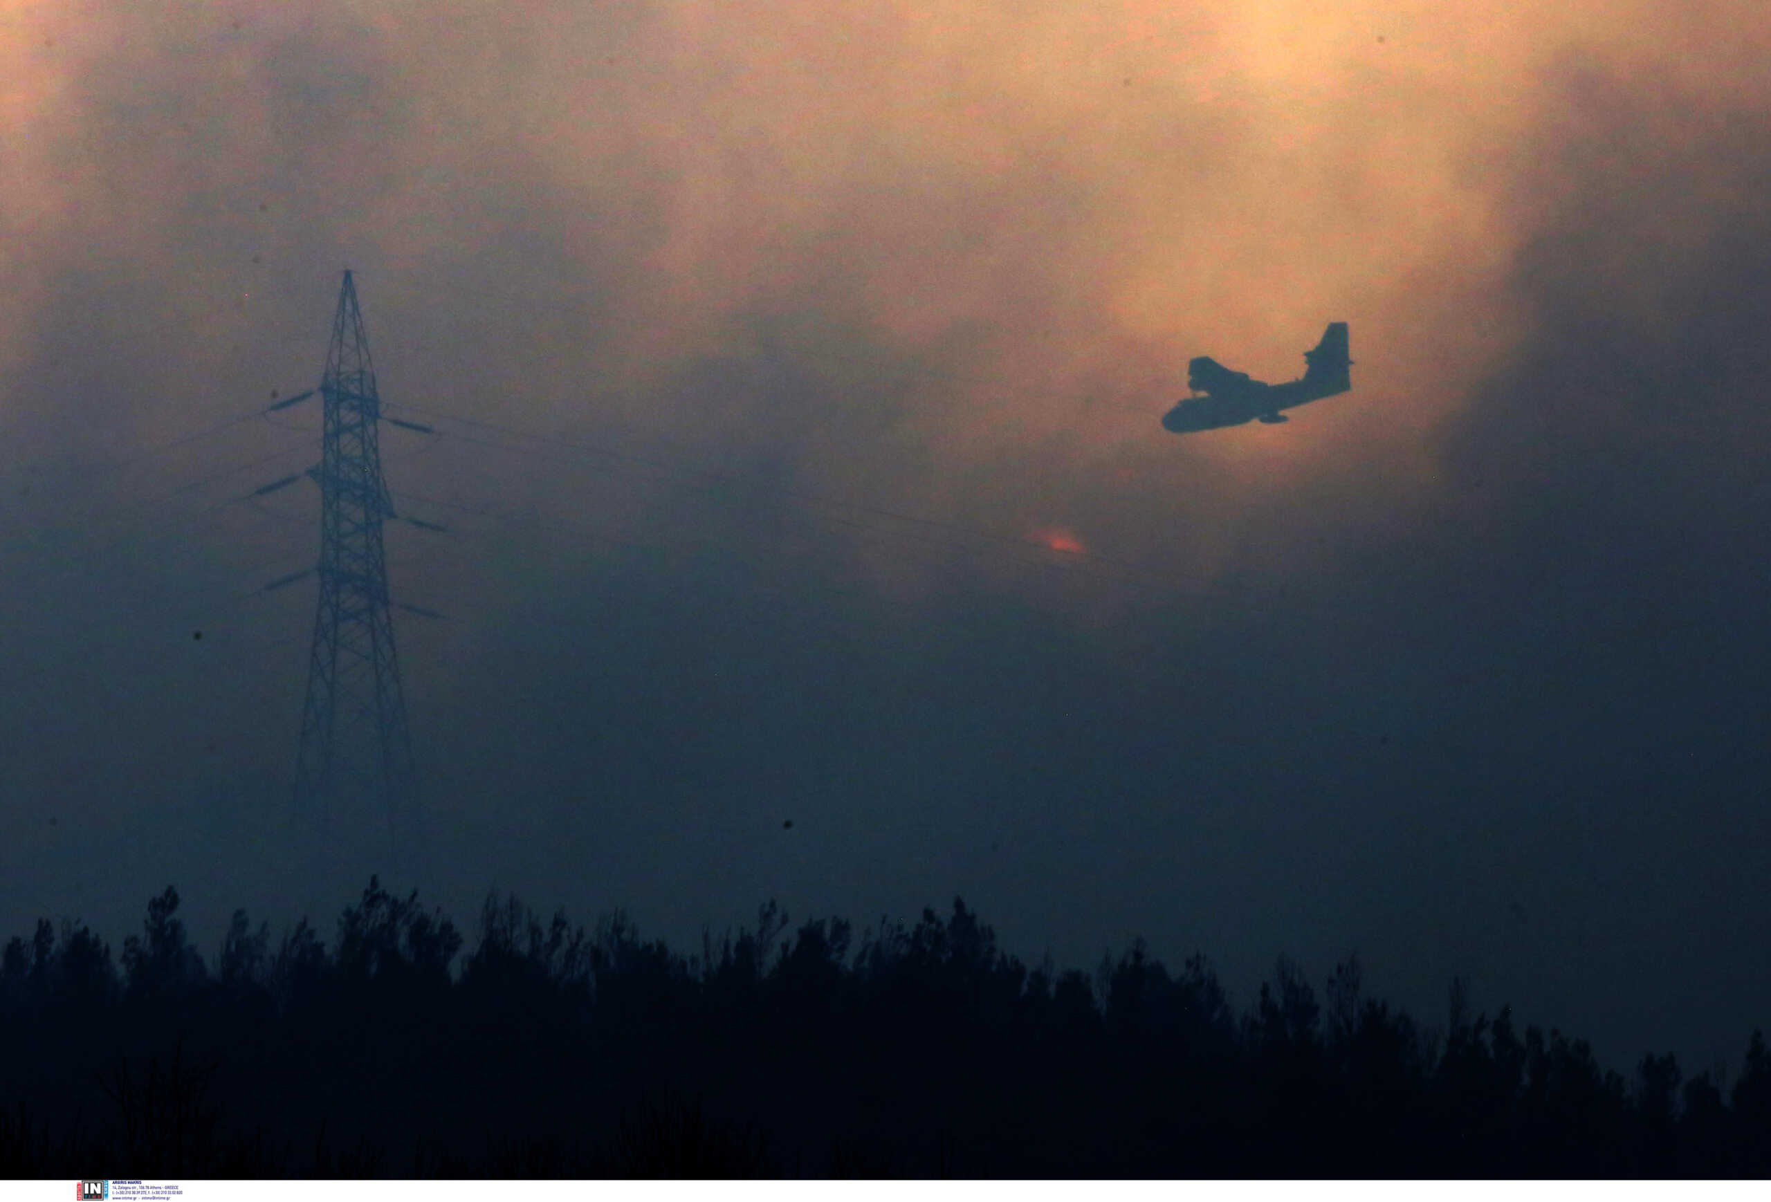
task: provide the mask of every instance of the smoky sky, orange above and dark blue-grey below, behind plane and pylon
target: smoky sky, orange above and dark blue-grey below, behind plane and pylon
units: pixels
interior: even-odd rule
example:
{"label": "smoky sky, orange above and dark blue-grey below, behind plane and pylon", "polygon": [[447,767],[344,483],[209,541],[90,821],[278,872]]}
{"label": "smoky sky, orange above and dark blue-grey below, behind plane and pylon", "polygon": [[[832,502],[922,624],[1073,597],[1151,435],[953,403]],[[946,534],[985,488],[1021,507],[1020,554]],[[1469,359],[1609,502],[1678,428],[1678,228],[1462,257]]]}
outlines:
{"label": "smoky sky, orange above and dark blue-grey below, behind plane and pylon", "polygon": [[[1737,1059],[1762,7],[0,0],[0,931],[361,887],[289,866],[313,584],[253,593],[317,497],[237,501],[315,402],[214,428],[349,266],[439,430],[383,450],[459,921],[963,894]],[[1351,393],[1160,428],[1328,320]]]}

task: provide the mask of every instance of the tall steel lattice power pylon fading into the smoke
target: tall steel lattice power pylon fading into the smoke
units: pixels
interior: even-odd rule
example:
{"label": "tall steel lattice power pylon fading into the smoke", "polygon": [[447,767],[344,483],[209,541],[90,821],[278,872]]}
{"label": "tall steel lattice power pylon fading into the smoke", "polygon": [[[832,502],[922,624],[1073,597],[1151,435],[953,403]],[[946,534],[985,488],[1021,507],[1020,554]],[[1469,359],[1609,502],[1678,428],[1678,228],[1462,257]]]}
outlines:
{"label": "tall steel lattice power pylon fading into the smoke", "polygon": [[390,850],[411,851],[416,823],[413,745],[388,613],[381,478],[381,398],[356,285],[344,273],[326,375],[321,464],[319,611],[296,759],[296,814],[333,843],[333,823],[386,821]]}

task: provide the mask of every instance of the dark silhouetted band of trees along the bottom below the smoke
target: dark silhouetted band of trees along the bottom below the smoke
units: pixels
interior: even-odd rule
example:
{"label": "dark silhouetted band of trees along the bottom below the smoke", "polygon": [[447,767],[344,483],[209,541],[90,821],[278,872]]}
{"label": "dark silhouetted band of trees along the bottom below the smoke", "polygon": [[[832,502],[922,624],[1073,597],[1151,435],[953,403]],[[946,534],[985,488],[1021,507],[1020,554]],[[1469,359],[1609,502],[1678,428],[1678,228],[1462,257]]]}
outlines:
{"label": "dark silhouetted band of trees along the bottom below the smoke", "polygon": [[684,956],[377,882],[329,944],[172,889],[113,961],[81,924],[0,965],[0,1177],[1771,1175],[1771,1052],[1633,1080],[1509,1011],[1427,1030],[1280,963],[1249,1013],[1133,947],[1029,970],[955,901],[914,928],[754,929]]}

